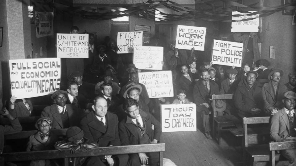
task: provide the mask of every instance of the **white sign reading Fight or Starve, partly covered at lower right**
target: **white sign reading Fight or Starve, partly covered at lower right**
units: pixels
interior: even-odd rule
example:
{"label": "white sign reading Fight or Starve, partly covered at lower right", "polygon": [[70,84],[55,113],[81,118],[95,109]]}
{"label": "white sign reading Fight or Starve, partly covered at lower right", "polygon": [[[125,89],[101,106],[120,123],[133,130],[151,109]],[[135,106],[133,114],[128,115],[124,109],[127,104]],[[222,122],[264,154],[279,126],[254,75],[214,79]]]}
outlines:
{"label": "white sign reading Fight or Starve, partly covered at lower right", "polygon": [[117,53],[133,53],[135,46],[143,45],[143,32],[118,32]]}

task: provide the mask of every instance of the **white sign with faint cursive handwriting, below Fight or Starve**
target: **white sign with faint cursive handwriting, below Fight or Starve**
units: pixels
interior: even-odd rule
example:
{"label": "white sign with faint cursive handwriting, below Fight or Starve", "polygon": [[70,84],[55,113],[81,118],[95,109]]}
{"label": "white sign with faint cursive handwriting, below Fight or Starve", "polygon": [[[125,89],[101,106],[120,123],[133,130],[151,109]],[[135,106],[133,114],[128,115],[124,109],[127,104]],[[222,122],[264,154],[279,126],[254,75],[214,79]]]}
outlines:
{"label": "white sign with faint cursive handwriting, below Fight or Starve", "polygon": [[134,47],[134,64],[138,69],[162,70],[162,57],[163,47]]}

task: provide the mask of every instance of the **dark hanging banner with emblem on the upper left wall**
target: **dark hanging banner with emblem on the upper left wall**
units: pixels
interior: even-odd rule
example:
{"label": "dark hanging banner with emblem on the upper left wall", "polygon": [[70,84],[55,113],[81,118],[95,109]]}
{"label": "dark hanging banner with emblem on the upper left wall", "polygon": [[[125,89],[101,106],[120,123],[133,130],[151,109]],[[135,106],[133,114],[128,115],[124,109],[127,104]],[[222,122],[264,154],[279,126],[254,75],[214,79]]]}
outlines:
{"label": "dark hanging banner with emblem on the upper left wall", "polygon": [[53,35],[53,13],[35,11],[36,37]]}

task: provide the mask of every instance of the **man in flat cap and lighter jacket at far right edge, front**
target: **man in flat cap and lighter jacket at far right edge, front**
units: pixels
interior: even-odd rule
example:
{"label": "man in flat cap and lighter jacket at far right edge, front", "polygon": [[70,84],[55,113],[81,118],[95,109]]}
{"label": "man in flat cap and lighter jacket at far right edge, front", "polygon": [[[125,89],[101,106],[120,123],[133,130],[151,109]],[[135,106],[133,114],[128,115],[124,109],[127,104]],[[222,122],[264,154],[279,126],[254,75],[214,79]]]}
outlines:
{"label": "man in flat cap and lighter jacket at far right edge, front", "polygon": [[[271,117],[270,136],[273,141],[281,142],[296,139],[296,93],[287,91],[282,100],[284,108]],[[285,156],[290,165],[296,165],[296,149],[281,150],[281,155]]]}

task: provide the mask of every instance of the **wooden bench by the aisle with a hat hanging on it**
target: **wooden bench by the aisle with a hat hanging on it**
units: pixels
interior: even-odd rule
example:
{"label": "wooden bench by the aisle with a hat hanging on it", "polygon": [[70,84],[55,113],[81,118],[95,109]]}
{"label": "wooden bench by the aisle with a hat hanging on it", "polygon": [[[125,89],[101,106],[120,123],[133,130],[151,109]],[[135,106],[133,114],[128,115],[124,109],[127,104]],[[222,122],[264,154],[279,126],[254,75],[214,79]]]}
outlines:
{"label": "wooden bench by the aisle with a hat hanging on it", "polygon": [[[224,116],[216,116],[216,100],[225,100],[225,99],[232,99],[232,94],[223,94],[223,95],[212,95],[212,101],[213,101],[213,124],[212,124],[212,136],[213,139],[215,139],[218,144],[220,144],[220,138],[221,138],[221,130],[225,127],[228,128],[236,128],[235,123],[240,123],[240,120],[235,117],[234,115],[224,115]],[[216,126],[217,124],[217,131]],[[216,135],[217,132],[217,135]],[[217,139],[216,139],[217,136]]]}

